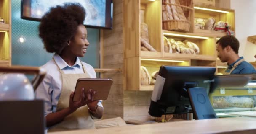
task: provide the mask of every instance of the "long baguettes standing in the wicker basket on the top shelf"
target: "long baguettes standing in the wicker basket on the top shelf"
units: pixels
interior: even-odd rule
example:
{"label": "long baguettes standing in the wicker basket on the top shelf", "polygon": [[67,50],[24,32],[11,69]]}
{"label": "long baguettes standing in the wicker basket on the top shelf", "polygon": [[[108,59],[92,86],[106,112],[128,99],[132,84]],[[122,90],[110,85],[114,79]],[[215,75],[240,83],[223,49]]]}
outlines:
{"label": "long baguettes standing in the wicker basket on the top shelf", "polygon": [[169,5],[168,3],[180,5],[179,0],[163,0],[162,1],[163,21],[187,20],[180,6]]}

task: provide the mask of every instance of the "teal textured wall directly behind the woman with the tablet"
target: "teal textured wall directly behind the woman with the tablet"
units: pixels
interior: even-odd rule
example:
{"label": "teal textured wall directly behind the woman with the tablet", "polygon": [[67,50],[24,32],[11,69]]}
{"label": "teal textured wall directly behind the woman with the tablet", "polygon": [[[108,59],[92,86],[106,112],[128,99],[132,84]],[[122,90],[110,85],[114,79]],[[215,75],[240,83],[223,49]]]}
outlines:
{"label": "teal textured wall directly behind the woman with the tablet", "polygon": [[[40,22],[21,19],[21,0],[12,0],[12,64],[26,66],[41,66],[48,62],[53,54],[43,49],[43,43],[38,37]],[[87,28],[90,46],[82,61],[94,68],[100,67],[99,29]],[[24,43],[19,42],[24,37]]]}

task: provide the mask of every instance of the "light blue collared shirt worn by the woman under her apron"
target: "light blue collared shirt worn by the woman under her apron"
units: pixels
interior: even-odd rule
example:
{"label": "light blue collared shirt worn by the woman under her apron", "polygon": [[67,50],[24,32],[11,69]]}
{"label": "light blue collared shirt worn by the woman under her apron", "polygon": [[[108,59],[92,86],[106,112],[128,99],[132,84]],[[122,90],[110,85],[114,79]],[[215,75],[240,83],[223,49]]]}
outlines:
{"label": "light blue collared shirt worn by the woman under her apron", "polygon": [[[73,66],[69,66],[58,54],[54,54],[53,58],[65,74],[84,73],[82,67],[83,64],[86,72],[88,72],[90,77],[96,78],[96,73],[93,67],[85,62],[80,62],[80,59],[78,57]],[[53,59],[42,66],[44,69],[47,70],[47,75],[35,91],[36,98],[45,101],[45,116],[49,113],[56,112],[56,107],[61,94],[62,80],[58,66],[55,64]],[[101,102],[102,101],[99,101],[98,106],[103,108]]]}

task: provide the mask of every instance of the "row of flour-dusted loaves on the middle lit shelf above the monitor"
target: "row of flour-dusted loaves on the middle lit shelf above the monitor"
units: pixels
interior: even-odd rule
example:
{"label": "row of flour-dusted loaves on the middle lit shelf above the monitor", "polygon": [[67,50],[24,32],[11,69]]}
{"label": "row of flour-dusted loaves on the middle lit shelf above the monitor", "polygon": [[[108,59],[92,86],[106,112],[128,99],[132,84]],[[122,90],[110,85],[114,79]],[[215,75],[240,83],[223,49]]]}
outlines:
{"label": "row of flour-dusted loaves on the middle lit shelf above the monitor", "polygon": [[164,51],[168,53],[199,54],[199,47],[190,41],[175,41],[164,37]]}

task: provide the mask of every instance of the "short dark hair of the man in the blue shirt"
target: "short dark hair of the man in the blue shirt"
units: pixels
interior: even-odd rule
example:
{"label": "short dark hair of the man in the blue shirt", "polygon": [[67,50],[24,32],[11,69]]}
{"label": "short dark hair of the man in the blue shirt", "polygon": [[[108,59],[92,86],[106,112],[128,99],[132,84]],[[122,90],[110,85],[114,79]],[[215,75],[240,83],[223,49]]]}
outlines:
{"label": "short dark hair of the man in the blue shirt", "polygon": [[221,37],[219,41],[216,42],[216,44],[221,45],[222,49],[224,49],[227,46],[230,46],[236,54],[238,54],[239,50],[239,41],[231,35],[226,35]]}

